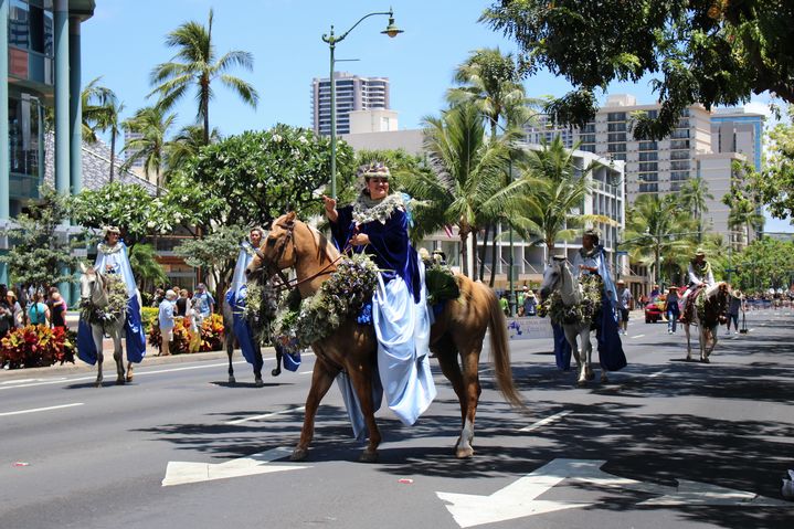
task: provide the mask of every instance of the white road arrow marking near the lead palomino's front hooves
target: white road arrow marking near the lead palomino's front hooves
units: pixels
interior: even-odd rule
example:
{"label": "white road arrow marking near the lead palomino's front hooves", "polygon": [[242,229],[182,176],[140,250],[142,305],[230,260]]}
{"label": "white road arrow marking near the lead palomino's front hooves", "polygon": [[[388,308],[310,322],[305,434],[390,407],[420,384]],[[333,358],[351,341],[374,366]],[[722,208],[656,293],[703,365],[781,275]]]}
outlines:
{"label": "white road arrow marking near the lead palomino's front hooves", "polygon": [[171,461],[168,462],[162,486],[168,487],[187,483],[210,482],[212,479],[309,468],[308,466],[298,465],[268,465],[269,462],[286,457],[292,451],[289,448],[278,447],[218,464]]}

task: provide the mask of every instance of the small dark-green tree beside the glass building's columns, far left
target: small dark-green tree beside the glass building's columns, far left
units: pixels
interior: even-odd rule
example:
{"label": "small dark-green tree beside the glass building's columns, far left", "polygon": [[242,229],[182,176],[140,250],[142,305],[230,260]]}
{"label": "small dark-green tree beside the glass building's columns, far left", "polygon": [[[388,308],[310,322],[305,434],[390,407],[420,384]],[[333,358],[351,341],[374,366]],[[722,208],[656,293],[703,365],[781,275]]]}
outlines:
{"label": "small dark-green tree beside the glass building's columns, far left", "polygon": [[46,290],[74,281],[68,269],[77,266],[78,258],[72,255],[70,241],[56,233],[66,219],[66,200],[49,186],[40,188],[39,201],[31,204],[30,212],[18,215],[17,228],[3,232],[12,244],[0,262],[8,265],[13,283]]}

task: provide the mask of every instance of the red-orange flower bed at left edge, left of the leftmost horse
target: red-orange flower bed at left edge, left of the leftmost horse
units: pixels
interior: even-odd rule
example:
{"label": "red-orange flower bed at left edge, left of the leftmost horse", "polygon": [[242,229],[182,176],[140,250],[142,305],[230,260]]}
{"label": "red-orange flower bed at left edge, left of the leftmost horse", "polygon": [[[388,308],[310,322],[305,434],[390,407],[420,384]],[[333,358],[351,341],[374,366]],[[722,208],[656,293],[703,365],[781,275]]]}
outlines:
{"label": "red-orange flower bed at left edge, left of the leftmost horse", "polygon": [[29,325],[13,329],[0,341],[0,363],[10,369],[74,363],[75,334],[61,327]]}

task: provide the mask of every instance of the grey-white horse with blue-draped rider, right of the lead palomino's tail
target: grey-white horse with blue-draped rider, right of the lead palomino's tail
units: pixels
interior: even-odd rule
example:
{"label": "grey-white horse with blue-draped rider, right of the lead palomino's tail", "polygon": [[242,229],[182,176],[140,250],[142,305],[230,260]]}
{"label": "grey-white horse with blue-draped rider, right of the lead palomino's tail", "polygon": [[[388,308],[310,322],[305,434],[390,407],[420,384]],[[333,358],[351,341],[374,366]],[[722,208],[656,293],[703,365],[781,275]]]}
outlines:
{"label": "grey-white horse with blue-draped rider, right of the lead palomino's tail", "polygon": [[[543,271],[540,296],[542,299],[548,299],[553,293],[559,293],[564,311],[568,314],[576,313],[576,308],[582,305],[584,299],[582,285],[573,278],[573,274],[571,274],[568,266],[568,260],[564,257],[553,257]],[[568,320],[563,318],[561,322],[565,339],[571,346],[571,352],[576,359],[576,367],[579,368],[576,383],[579,385],[584,385],[586,381],[595,378],[591,367],[593,353],[593,347],[590,342],[592,316],[587,316],[586,310],[583,313],[584,319],[571,318]],[[579,347],[576,347],[576,338],[579,338]],[[601,381],[608,382],[606,370],[603,368],[601,369]]]}

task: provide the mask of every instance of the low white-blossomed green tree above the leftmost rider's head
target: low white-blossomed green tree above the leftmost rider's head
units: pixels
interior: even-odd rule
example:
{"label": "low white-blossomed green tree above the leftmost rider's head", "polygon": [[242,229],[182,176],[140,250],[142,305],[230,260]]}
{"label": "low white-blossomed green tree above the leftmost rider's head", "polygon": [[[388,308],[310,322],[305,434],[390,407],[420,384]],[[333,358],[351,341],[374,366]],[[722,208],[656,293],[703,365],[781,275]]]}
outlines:
{"label": "low white-blossomed green tree above the leftmost rider's head", "polygon": [[71,212],[74,222],[85,228],[118,226],[130,247],[191,219],[190,213],[163,199],[152,198],[141,186],[119,181],[97,190],[84,189],[72,198]]}

